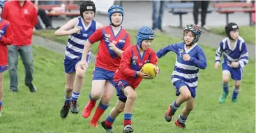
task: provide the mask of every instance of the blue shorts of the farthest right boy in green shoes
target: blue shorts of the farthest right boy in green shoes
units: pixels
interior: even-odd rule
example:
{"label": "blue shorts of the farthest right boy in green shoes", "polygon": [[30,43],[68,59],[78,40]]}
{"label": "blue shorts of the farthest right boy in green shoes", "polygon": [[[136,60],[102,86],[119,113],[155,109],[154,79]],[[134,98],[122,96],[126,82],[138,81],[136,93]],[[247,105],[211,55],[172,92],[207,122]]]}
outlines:
{"label": "blue shorts of the farthest right boy in green shoes", "polygon": [[230,74],[235,81],[243,78],[243,68],[231,68],[227,63],[223,63],[223,73]]}

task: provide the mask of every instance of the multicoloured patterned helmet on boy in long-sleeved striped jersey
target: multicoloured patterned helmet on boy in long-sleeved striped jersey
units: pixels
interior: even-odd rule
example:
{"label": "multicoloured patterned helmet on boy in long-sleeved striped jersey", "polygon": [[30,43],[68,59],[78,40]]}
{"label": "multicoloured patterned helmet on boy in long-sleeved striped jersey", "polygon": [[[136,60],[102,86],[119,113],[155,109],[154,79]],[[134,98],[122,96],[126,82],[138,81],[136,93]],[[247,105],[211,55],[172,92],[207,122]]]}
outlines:
{"label": "multicoloured patterned helmet on boy in long-sleeved striped jersey", "polygon": [[193,45],[195,42],[197,42],[201,36],[201,29],[199,26],[197,26],[197,24],[188,24],[183,31],[191,31],[194,34],[195,39],[190,45]]}

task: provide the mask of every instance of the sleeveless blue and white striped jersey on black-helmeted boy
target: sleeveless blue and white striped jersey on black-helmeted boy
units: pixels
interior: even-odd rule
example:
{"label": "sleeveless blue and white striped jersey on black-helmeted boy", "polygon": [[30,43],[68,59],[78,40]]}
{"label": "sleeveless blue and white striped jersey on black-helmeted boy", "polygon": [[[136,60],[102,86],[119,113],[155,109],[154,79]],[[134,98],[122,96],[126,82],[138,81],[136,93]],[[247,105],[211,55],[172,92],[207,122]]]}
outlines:
{"label": "sleeveless blue and white striped jersey on black-helmeted boy", "polygon": [[[68,45],[65,51],[65,58],[74,59],[82,58],[82,52],[84,49],[84,43],[97,29],[97,22],[92,20],[91,23],[86,27],[82,20],[82,17],[77,17],[78,23],[76,26],[81,26],[82,30],[80,33],[73,33],[68,38]],[[88,52],[91,54],[91,50]]]}

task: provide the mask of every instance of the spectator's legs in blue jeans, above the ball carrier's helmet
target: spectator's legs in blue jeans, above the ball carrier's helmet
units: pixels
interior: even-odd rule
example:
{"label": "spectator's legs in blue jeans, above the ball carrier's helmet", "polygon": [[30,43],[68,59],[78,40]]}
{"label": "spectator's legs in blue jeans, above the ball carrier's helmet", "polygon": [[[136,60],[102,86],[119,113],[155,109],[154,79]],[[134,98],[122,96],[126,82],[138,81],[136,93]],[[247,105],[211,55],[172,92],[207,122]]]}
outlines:
{"label": "spectator's legs in blue jeans, above the ball carrier's helmet", "polygon": [[153,13],[152,13],[153,31],[160,30],[160,32],[165,32],[162,29],[162,18],[163,18],[164,8],[165,8],[165,1],[153,0]]}

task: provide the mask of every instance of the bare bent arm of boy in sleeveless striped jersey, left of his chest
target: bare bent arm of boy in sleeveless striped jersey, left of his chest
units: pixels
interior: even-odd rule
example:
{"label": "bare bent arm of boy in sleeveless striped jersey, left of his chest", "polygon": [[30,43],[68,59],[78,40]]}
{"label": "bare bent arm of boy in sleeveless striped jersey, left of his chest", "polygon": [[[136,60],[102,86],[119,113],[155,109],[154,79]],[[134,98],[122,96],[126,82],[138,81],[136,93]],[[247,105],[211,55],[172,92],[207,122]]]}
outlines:
{"label": "bare bent arm of boy in sleeveless striped jersey, left of his chest", "polygon": [[55,36],[67,36],[73,33],[78,33],[81,28],[75,26],[78,23],[77,17],[70,19],[66,24],[61,26],[57,31],[55,31]]}

